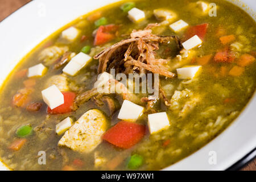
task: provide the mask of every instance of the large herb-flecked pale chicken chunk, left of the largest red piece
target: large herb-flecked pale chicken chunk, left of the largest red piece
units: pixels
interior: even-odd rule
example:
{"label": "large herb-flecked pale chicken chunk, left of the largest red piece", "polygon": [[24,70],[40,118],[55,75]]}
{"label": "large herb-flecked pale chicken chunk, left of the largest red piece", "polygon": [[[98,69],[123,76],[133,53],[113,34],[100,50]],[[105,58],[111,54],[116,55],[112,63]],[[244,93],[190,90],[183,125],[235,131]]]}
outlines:
{"label": "large herb-flecked pale chicken chunk, left of the largest red piece", "polygon": [[108,128],[105,115],[98,109],[88,110],[59,140],[59,146],[88,153],[101,143],[102,134]]}

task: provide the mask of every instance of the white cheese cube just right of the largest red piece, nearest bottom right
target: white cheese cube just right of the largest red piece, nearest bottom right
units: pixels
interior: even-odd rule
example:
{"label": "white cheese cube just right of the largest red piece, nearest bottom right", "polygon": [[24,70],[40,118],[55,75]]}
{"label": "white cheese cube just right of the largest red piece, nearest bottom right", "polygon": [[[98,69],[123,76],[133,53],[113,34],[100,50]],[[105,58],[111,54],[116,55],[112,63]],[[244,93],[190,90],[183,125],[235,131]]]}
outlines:
{"label": "white cheese cube just right of the largest red piece, nearest bottom right", "polygon": [[150,134],[167,129],[170,126],[166,112],[148,114],[148,129]]}

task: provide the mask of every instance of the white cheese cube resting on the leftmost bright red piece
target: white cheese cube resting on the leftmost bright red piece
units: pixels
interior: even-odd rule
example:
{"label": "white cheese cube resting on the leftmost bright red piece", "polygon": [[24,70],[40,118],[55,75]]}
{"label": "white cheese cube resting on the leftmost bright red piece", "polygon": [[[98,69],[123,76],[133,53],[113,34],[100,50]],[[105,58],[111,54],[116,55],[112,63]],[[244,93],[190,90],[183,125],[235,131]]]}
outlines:
{"label": "white cheese cube resting on the leftmost bright red piece", "polygon": [[64,96],[56,85],[52,85],[47,89],[44,89],[42,91],[42,96],[44,102],[46,102],[50,109],[54,109],[57,106],[64,104]]}

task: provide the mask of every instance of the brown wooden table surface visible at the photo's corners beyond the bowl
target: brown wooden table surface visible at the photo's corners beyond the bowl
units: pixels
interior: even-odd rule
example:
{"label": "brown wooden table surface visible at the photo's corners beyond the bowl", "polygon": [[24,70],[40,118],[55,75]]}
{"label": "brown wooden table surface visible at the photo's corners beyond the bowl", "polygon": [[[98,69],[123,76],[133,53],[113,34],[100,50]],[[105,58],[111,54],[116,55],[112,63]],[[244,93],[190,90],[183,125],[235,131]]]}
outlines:
{"label": "brown wooden table surface visible at the photo's corners beyond the bowl", "polygon": [[[15,10],[19,9],[20,7],[22,7],[27,2],[30,2],[30,1],[31,0],[0,0],[0,22],[1,22],[1,20],[5,19],[6,16],[10,15]],[[54,0],[52,0],[52,1],[54,1]],[[70,1],[72,1],[72,0],[70,0]],[[241,170],[256,171],[256,159],[254,159],[252,162],[247,164]]]}

